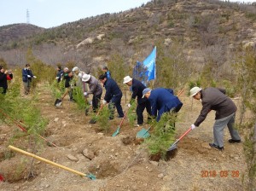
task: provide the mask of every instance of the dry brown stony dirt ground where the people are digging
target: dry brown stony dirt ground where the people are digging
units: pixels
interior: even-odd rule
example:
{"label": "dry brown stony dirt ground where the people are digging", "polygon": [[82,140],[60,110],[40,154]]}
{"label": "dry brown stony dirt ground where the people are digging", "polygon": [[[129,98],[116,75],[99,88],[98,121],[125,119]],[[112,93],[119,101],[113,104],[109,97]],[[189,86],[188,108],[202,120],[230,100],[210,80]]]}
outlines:
{"label": "dry brown stony dirt ground where the people are digging", "polygon": [[[58,147],[50,147],[43,142],[43,147],[37,148],[36,154],[73,170],[92,173],[96,180],[80,177],[21,153],[6,159],[9,138],[17,127],[1,124],[0,174],[5,177],[5,182],[0,182],[0,190],[246,190],[247,164],[242,144],[230,144],[226,128],[224,151],[208,146],[212,142],[214,112],[209,113],[199,128],[178,142],[173,159],[156,162],[149,160],[143,144],[137,144],[135,140],[141,128],[132,127],[125,120],[120,134],[112,137],[121,119],[110,121],[111,130],[105,134],[99,132],[98,124],[89,124],[90,116],[78,111],[67,98],[61,107],[55,107],[55,98],[48,89],[40,87],[38,94],[38,107],[49,119],[44,136]],[[200,101],[192,104],[186,93],[180,99],[183,107],[176,125],[177,137],[189,129],[201,111]],[[124,111],[127,109],[123,108]],[[30,142],[24,142],[24,138],[22,136],[12,145],[32,152]]]}

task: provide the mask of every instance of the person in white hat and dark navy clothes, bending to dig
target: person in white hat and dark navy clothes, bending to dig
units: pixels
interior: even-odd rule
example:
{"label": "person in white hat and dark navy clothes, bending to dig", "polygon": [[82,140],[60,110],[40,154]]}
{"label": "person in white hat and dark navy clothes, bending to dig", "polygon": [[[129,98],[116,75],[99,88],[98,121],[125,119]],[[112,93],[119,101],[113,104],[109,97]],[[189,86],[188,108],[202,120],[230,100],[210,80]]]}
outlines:
{"label": "person in white hat and dark navy clothes, bending to dig", "polygon": [[139,80],[131,78],[130,76],[125,76],[123,83],[130,86],[132,90],[131,100],[128,104],[128,107],[131,107],[131,104],[133,103],[133,101],[135,101],[137,97],[137,124],[135,126],[139,127],[143,125],[143,111],[145,110],[145,108],[148,112],[148,120],[151,119],[151,117],[149,117],[151,116],[150,102],[147,98],[143,97],[143,90],[146,89],[146,86]]}

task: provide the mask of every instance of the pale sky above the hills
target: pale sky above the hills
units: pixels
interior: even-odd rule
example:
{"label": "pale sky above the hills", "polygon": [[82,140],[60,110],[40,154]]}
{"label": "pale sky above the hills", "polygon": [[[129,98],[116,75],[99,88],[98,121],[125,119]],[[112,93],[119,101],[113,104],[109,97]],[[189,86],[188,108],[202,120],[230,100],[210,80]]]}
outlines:
{"label": "pale sky above the hills", "polygon": [[[238,1],[241,2],[231,0]],[[150,0],[0,0],[0,26],[28,22],[50,28],[98,14],[118,13],[148,2]]]}

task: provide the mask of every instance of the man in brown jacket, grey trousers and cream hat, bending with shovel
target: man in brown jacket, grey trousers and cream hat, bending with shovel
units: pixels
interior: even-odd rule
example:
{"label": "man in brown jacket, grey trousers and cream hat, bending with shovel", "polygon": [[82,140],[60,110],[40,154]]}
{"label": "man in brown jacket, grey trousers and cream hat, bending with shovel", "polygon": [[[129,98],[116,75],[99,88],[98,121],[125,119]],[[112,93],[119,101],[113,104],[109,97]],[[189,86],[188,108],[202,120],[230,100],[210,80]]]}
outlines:
{"label": "man in brown jacket, grey trousers and cream hat, bending with shovel", "polygon": [[206,118],[211,110],[215,110],[215,123],[213,124],[214,142],[209,143],[210,147],[224,150],[224,127],[227,125],[230,131],[230,143],[241,142],[237,130],[234,129],[236,119],[236,105],[225,95],[225,90],[220,88],[209,87],[202,90],[194,87],[190,90],[190,96],[195,100],[201,100],[202,109],[191,129],[198,127]]}

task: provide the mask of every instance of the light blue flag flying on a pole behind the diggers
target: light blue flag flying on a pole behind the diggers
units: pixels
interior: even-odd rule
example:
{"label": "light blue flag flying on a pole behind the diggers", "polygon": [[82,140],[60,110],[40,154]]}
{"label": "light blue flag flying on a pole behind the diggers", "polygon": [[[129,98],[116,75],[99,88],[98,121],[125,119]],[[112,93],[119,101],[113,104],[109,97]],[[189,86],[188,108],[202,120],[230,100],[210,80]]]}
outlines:
{"label": "light blue flag flying on a pole behind the diggers", "polygon": [[147,68],[146,76],[148,76],[148,81],[155,79],[155,58],[156,47],[154,47],[150,55],[143,61],[143,66]]}

